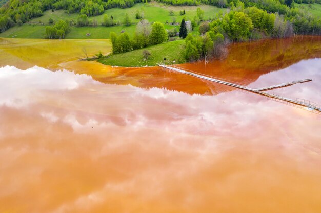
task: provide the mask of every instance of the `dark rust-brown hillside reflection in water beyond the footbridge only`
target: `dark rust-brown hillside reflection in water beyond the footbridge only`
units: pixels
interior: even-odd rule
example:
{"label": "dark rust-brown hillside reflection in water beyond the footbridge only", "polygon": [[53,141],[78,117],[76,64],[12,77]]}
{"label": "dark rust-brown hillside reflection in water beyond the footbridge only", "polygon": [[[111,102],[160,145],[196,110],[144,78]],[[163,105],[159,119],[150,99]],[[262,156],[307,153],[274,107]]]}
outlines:
{"label": "dark rust-brown hillside reflection in water beyond the footbridge only", "polygon": [[211,61],[206,64],[206,69],[204,62],[182,66],[200,73],[250,83],[262,74],[315,57],[321,57],[321,37],[304,36],[234,43],[230,45],[225,60]]}

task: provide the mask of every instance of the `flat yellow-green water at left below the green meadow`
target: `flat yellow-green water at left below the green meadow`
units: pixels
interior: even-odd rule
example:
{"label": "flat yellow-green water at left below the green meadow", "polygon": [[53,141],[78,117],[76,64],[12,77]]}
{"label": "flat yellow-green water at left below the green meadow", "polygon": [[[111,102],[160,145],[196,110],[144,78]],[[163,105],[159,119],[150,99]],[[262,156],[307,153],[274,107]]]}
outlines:
{"label": "flat yellow-green water at left below the green meadow", "polygon": [[[99,51],[109,52],[110,44],[106,39],[11,39],[0,38],[1,55],[7,60],[0,59],[0,66],[13,65],[26,69],[31,66],[41,66],[56,69],[59,63],[86,57]],[[17,60],[18,59],[18,60]]]}

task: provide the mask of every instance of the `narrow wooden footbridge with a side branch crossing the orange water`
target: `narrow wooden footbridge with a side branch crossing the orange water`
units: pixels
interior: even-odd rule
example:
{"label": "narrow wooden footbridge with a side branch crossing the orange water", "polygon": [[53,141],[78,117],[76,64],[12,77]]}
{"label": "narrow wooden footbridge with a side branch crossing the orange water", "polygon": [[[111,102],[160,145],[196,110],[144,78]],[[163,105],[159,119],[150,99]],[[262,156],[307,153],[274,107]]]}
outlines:
{"label": "narrow wooden footbridge with a side branch crossing the orange water", "polygon": [[163,67],[165,69],[173,70],[173,71],[178,72],[178,73],[183,73],[183,74],[187,74],[187,75],[194,76],[194,77],[197,77],[197,78],[201,78],[201,79],[205,79],[205,80],[208,80],[208,81],[212,81],[212,82],[215,82],[215,83],[232,86],[232,87],[235,87],[235,88],[243,90],[243,91],[253,92],[253,93],[259,94],[261,96],[265,96],[268,99],[273,100],[273,101],[285,103],[285,104],[288,104],[288,105],[292,105],[292,106],[295,106],[295,107],[306,109],[308,111],[311,111],[311,112],[314,112],[314,113],[317,113],[317,114],[321,114],[321,107],[318,106],[317,104],[313,103],[313,102],[310,102],[310,101],[307,101],[307,100],[304,100],[304,99],[285,98],[285,97],[282,97],[282,96],[280,96],[278,94],[264,92],[264,91],[267,91],[267,90],[272,90],[272,89],[276,89],[276,88],[280,88],[280,87],[291,86],[291,85],[297,84],[297,83],[309,82],[309,81],[312,81],[312,79],[305,79],[305,80],[293,81],[293,82],[288,82],[288,83],[283,83],[283,84],[278,84],[278,85],[273,85],[273,86],[268,86],[268,87],[263,87],[263,88],[252,89],[252,88],[249,88],[249,87],[247,87],[245,85],[240,85],[237,82],[232,82],[232,81],[228,81],[228,80],[220,79],[220,78],[214,78],[213,76],[209,76],[209,75],[202,74],[202,73],[196,73],[196,72],[194,72],[192,70],[184,69],[184,68],[181,68],[181,67],[176,67],[176,66],[173,66],[173,65],[171,65],[171,66],[159,65],[159,66]]}

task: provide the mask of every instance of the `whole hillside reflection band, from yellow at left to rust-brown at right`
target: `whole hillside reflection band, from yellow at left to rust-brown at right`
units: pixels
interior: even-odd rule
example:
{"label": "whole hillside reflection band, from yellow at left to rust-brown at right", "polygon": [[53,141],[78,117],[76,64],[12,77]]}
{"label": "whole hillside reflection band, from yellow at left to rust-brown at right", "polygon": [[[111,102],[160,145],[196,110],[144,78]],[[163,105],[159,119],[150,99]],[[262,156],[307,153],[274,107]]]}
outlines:
{"label": "whole hillside reflection band, from yellow at left to rust-brown at right", "polygon": [[[131,84],[142,88],[167,88],[189,94],[217,94],[233,88],[195,77],[164,71],[159,67],[115,68],[94,61],[77,61],[99,50],[110,51],[106,39],[10,39],[0,38],[0,66],[18,68],[41,66],[51,70],[68,69],[91,75],[104,83]],[[179,66],[214,77],[250,84],[263,74],[288,67],[300,60],[321,57],[321,36],[296,39],[270,39],[234,43],[225,60],[181,64]],[[124,59],[128,60],[128,59]],[[280,82],[282,83],[282,82]]]}

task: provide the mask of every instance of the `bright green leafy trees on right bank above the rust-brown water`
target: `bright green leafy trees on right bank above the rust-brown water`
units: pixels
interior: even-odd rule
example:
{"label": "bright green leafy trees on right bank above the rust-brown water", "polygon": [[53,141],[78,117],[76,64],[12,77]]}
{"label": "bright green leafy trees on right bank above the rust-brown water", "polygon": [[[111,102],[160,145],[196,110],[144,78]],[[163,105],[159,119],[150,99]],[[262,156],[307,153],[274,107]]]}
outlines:
{"label": "bright green leafy trees on right bank above the rust-brown water", "polygon": [[218,16],[210,24],[215,33],[222,33],[233,41],[261,37],[288,37],[293,34],[321,35],[321,19],[290,8],[286,14],[269,13],[237,2],[231,11]]}

